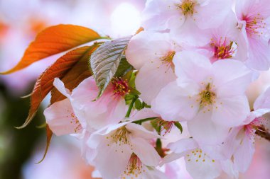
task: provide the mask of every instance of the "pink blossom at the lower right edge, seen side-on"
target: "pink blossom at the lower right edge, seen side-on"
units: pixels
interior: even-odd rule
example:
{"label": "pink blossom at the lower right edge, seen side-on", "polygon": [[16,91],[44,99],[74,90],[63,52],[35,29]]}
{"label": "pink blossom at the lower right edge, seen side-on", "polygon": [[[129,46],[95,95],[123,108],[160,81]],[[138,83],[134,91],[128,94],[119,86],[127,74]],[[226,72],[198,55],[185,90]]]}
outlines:
{"label": "pink blossom at the lower right edge, seen side-on", "polygon": [[227,137],[224,151],[227,157],[234,158],[234,168],[246,172],[254,155],[255,132],[265,129],[266,119],[262,115],[270,112],[270,88],[262,93],[254,103],[252,111],[241,127],[235,127]]}

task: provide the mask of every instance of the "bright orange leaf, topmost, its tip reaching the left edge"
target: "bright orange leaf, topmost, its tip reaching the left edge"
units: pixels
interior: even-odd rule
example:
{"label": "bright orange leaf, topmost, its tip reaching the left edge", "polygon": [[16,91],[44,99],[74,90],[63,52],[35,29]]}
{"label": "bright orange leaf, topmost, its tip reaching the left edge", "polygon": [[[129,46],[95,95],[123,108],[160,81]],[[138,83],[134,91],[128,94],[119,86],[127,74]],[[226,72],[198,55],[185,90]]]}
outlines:
{"label": "bright orange leaf, topmost, its tip reaching the left edge", "polygon": [[45,57],[65,52],[100,38],[102,37],[94,30],[78,25],[55,25],[45,28],[41,33],[38,33],[36,39],[28,46],[21,61],[12,69],[0,74],[11,74]]}

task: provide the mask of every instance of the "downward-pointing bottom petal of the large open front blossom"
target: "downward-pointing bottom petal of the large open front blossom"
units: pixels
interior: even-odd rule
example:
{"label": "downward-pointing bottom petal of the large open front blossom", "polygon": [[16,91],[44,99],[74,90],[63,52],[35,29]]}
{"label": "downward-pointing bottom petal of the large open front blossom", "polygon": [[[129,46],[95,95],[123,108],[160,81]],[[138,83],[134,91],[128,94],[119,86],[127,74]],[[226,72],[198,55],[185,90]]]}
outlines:
{"label": "downward-pointing bottom petal of the large open front blossom", "polygon": [[199,144],[221,144],[229,134],[229,127],[216,125],[211,120],[211,112],[200,111],[188,121],[188,131]]}

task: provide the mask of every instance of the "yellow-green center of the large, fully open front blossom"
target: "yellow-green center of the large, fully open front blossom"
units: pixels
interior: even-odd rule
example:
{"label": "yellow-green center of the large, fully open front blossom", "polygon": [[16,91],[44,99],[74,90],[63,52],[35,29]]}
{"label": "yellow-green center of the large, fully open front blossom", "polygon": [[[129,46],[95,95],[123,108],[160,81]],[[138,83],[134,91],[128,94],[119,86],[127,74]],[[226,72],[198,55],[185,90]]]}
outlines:
{"label": "yellow-green center of the large, fully open front blossom", "polygon": [[205,90],[201,91],[199,93],[200,96],[200,106],[207,106],[212,105],[212,103],[215,103],[215,93],[211,91],[211,84],[207,83],[207,86],[205,86]]}

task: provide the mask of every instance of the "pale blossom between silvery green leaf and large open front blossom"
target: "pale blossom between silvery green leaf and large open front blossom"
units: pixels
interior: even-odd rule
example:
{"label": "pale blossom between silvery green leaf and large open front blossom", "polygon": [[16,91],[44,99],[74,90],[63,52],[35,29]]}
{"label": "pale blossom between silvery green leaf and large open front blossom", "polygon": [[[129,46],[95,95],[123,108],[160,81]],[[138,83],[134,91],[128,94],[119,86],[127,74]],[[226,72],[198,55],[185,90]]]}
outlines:
{"label": "pale blossom between silvery green leaf and large open front blossom", "polygon": [[175,80],[173,56],[179,50],[168,33],[143,31],[129,42],[126,59],[139,70],[136,88],[149,105],[161,88]]}

